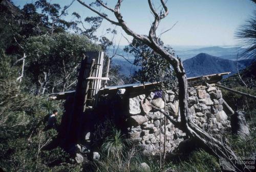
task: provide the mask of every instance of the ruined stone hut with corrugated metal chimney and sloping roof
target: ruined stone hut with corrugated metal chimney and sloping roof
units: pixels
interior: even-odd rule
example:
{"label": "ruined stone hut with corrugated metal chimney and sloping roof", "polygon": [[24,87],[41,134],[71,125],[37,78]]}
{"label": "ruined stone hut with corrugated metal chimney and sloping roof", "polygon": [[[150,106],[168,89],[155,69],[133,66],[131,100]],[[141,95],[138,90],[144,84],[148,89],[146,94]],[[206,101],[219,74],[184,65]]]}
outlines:
{"label": "ruined stone hut with corrugated metal chimney and sloping roof", "polygon": [[[81,62],[76,90],[49,95],[49,100],[66,100],[60,145],[74,150],[77,143],[90,143],[93,135],[89,133],[97,130],[98,121],[109,117],[114,118],[115,125],[144,153],[172,152],[187,136],[165,119],[161,111],[180,120],[178,90],[161,91],[160,83],[100,89],[101,80],[109,80],[108,76],[102,77],[102,67],[97,67],[102,66],[102,58],[102,52],[89,52]],[[215,85],[227,74],[188,79],[189,110],[194,114],[194,121],[203,130],[216,135],[229,130],[227,115],[233,114]]]}

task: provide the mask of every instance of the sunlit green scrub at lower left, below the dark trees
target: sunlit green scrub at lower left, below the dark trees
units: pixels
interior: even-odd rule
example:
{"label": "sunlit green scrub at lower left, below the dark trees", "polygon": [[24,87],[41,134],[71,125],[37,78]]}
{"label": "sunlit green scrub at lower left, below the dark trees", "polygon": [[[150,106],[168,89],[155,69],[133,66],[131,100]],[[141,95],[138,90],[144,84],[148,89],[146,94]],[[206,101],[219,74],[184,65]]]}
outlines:
{"label": "sunlit green scrub at lower left, below the dark trees", "polygon": [[[80,171],[62,149],[46,150],[57,131],[45,130],[45,117],[55,106],[23,91],[17,69],[4,53],[0,61],[0,166],[5,171]],[[2,91],[4,90],[4,91]],[[47,108],[42,108],[47,107]]]}

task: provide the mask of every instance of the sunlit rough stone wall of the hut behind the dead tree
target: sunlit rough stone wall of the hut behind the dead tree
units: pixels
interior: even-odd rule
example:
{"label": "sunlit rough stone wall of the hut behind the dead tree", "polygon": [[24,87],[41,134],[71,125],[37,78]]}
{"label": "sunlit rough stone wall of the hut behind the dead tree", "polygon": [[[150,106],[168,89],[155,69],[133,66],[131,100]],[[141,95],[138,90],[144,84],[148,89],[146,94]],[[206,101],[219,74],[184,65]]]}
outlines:
{"label": "sunlit rough stone wall of the hut behind the dead tree", "polygon": [[[124,92],[124,90],[119,90]],[[194,114],[194,121],[203,130],[211,134],[221,134],[230,129],[227,114],[232,110],[222,99],[222,92],[212,85],[189,87],[189,110]],[[122,96],[122,95],[121,95]],[[128,137],[138,143],[145,154],[159,152],[164,144],[164,115],[156,111],[151,105],[169,112],[172,118],[179,120],[179,102],[177,93],[172,90],[166,92],[143,92],[139,95],[123,96],[129,99],[125,102],[127,109],[123,108]],[[165,102],[164,102],[165,100]],[[165,106],[166,105],[166,106]],[[187,138],[186,134],[174,127],[166,119],[166,152],[172,152],[181,141]]]}

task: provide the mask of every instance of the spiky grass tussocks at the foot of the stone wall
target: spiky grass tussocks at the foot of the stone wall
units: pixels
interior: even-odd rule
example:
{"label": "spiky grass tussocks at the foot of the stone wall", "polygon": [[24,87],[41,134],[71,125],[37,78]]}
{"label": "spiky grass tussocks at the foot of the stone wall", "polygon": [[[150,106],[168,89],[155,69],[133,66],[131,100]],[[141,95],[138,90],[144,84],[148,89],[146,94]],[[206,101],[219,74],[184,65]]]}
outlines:
{"label": "spiky grass tussocks at the foot of the stone wall", "polygon": [[[146,163],[148,167],[141,164]],[[94,170],[100,172],[160,172],[160,171],[221,171],[215,157],[205,151],[198,150],[189,157],[178,158],[177,161],[162,162],[157,156],[144,156],[139,153],[136,146],[132,145],[119,130],[113,129],[101,146],[101,160],[95,162]]]}

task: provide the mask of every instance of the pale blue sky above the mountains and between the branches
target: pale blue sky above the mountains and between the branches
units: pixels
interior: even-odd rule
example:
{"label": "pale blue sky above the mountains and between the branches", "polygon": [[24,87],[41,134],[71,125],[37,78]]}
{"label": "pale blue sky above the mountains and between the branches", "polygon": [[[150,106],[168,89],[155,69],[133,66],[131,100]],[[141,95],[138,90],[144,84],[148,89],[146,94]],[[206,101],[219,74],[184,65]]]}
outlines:
{"label": "pale blue sky above the mountains and between the branches", "polygon": [[[13,0],[13,2],[23,7],[24,4],[35,2],[35,0]],[[51,3],[58,3],[61,6],[68,5],[70,2],[71,0],[51,0]],[[108,2],[113,7],[116,1]],[[158,7],[159,0],[153,0],[153,2]],[[238,45],[234,32],[256,10],[256,4],[249,0],[168,0],[167,7],[169,15],[161,21],[157,34],[169,29],[178,21],[172,30],[161,36],[164,43],[170,45]],[[83,18],[95,15],[78,2],[68,9],[70,14],[74,11]],[[108,14],[107,11],[106,13]],[[146,0],[124,0],[121,13],[132,30],[139,34],[148,34],[153,16]],[[114,19],[112,15],[110,17]],[[71,20],[72,17],[66,16],[66,19]],[[107,28],[115,28],[115,26],[104,21],[97,34],[103,34]],[[121,28],[116,29],[118,31],[116,42],[120,41],[120,45],[128,44],[121,37],[121,33],[124,34]],[[132,39],[129,36],[127,38]]]}

